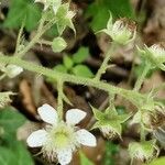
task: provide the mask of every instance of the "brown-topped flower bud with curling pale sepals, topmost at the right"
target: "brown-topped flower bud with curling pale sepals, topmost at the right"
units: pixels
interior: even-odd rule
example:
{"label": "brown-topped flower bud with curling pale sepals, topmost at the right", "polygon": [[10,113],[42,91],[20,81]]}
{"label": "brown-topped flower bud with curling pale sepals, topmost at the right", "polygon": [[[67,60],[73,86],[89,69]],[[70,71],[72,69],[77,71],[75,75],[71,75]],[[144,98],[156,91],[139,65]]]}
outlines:
{"label": "brown-topped flower bud with curling pale sepals, topmost at the right", "polygon": [[119,19],[112,23],[112,16],[110,14],[107,29],[102,31],[110,35],[116,43],[127,45],[135,38],[136,25],[125,18]]}

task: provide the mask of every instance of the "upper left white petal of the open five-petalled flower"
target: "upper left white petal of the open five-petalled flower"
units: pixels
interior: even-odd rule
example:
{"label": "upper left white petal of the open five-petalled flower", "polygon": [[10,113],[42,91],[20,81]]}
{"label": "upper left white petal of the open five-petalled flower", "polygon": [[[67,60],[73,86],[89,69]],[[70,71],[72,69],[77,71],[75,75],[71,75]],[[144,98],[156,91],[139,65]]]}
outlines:
{"label": "upper left white petal of the open five-petalled flower", "polygon": [[58,116],[56,110],[50,105],[45,103],[37,109],[41,119],[50,124],[56,124]]}

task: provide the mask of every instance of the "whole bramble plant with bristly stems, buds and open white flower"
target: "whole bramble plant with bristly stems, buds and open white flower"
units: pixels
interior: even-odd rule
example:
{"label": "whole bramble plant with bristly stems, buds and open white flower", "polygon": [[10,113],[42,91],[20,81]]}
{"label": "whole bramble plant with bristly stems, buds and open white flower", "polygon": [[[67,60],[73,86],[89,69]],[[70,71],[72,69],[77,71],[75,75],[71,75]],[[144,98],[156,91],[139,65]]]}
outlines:
{"label": "whole bramble plant with bristly stems, buds and open white flower", "polygon": [[[107,72],[112,54],[121,46],[127,46],[130,43],[134,44],[136,37],[136,25],[134,22],[125,18],[113,22],[112,14],[110,13],[107,28],[99,31],[99,33],[108,34],[111,43],[96,75],[86,65],[81,64],[86,59],[86,55],[89,54],[85,47],[81,47],[78,54],[74,54],[73,57],[65,55],[63,64],[55,66],[53,69],[46,68],[25,61],[26,53],[37,43],[50,45],[55,53],[64,51],[67,47],[67,43],[62,34],[66,28],[69,28],[76,35],[73,23],[73,18],[76,13],[70,10],[69,2],[63,3],[62,0],[35,0],[35,3],[42,3],[44,7],[33,38],[29,42],[24,40],[23,28],[25,22],[23,22],[18,35],[14,54],[8,55],[0,52],[0,80],[6,77],[14,78],[23,70],[29,70],[43,75],[57,85],[57,110],[46,103],[37,109],[37,113],[47,125],[30,134],[26,140],[28,145],[30,147],[42,147],[41,152],[48,162],[56,162],[62,165],[70,163],[73,153],[79,150],[81,144],[90,147],[97,145],[97,139],[94,134],[87,131],[87,129],[76,127],[86,117],[86,112],[79,109],[70,109],[66,112],[66,121],[64,120],[64,101],[69,102],[64,94],[64,87],[66,82],[69,82],[95,87],[109,95],[109,107],[107,109],[101,111],[91,106],[94,118],[97,121],[90,125],[90,129],[99,129],[108,141],[113,138],[122,140],[122,123],[130,120],[130,124],[139,124],[140,133],[140,140],[129,144],[128,151],[131,162],[134,158],[148,162],[158,156],[158,146],[156,144],[156,136],[154,136],[156,129],[153,123],[158,122],[158,116],[165,116],[165,107],[155,97],[156,88],[148,94],[141,94],[140,89],[151,69],[160,68],[165,70],[165,47],[163,43],[154,44],[151,47],[144,45],[144,48],[134,45],[138,47],[139,54],[144,58],[145,67],[140,77],[138,77],[133,89],[116,87],[103,81],[101,76]],[[44,40],[43,35],[54,24],[57,26],[58,36],[55,36],[52,41]],[[160,88],[162,87],[163,85]],[[6,107],[11,101],[10,96],[12,95],[16,94],[11,91],[0,92],[0,108]],[[114,106],[117,95],[134,105],[136,112],[119,114]],[[7,128],[3,128],[1,123],[0,118],[0,129],[2,128],[2,134],[6,134]],[[151,140],[146,139],[148,133],[153,134]],[[22,147],[21,145],[20,147]]]}

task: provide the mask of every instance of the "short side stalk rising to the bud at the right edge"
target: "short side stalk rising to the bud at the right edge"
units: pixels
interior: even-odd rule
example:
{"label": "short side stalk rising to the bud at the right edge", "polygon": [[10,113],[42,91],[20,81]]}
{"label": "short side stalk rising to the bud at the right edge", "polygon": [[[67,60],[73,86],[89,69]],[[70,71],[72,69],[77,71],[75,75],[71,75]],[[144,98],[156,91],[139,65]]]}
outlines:
{"label": "short side stalk rising to the bud at the right edge", "polygon": [[151,68],[150,64],[146,64],[142,75],[138,78],[133,90],[139,91],[141,89],[141,86],[142,86],[142,84],[143,84],[143,81],[144,81],[144,79],[146,77],[146,74],[148,73],[150,68]]}

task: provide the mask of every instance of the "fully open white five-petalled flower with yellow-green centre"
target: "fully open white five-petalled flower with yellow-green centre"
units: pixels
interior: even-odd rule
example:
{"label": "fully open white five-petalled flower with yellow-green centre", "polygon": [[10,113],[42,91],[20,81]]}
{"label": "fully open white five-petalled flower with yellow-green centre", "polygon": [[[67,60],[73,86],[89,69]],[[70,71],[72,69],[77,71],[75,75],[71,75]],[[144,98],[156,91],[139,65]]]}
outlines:
{"label": "fully open white five-petalled flower with yellow-green centre", "polygon": [[90,132],[75,127],[86,117],[86,112],[70,109],[66,112],[66,122],[61,121],[56,110],[48,105],[40,107],[37,112],[50,125],[33,132],[26,142],[31,147],[42,146],[44,156],[50,161],[58,160],[62,165],[66,165],[72,161],[73,152],[81,144],[96,146],[96,138]]}

